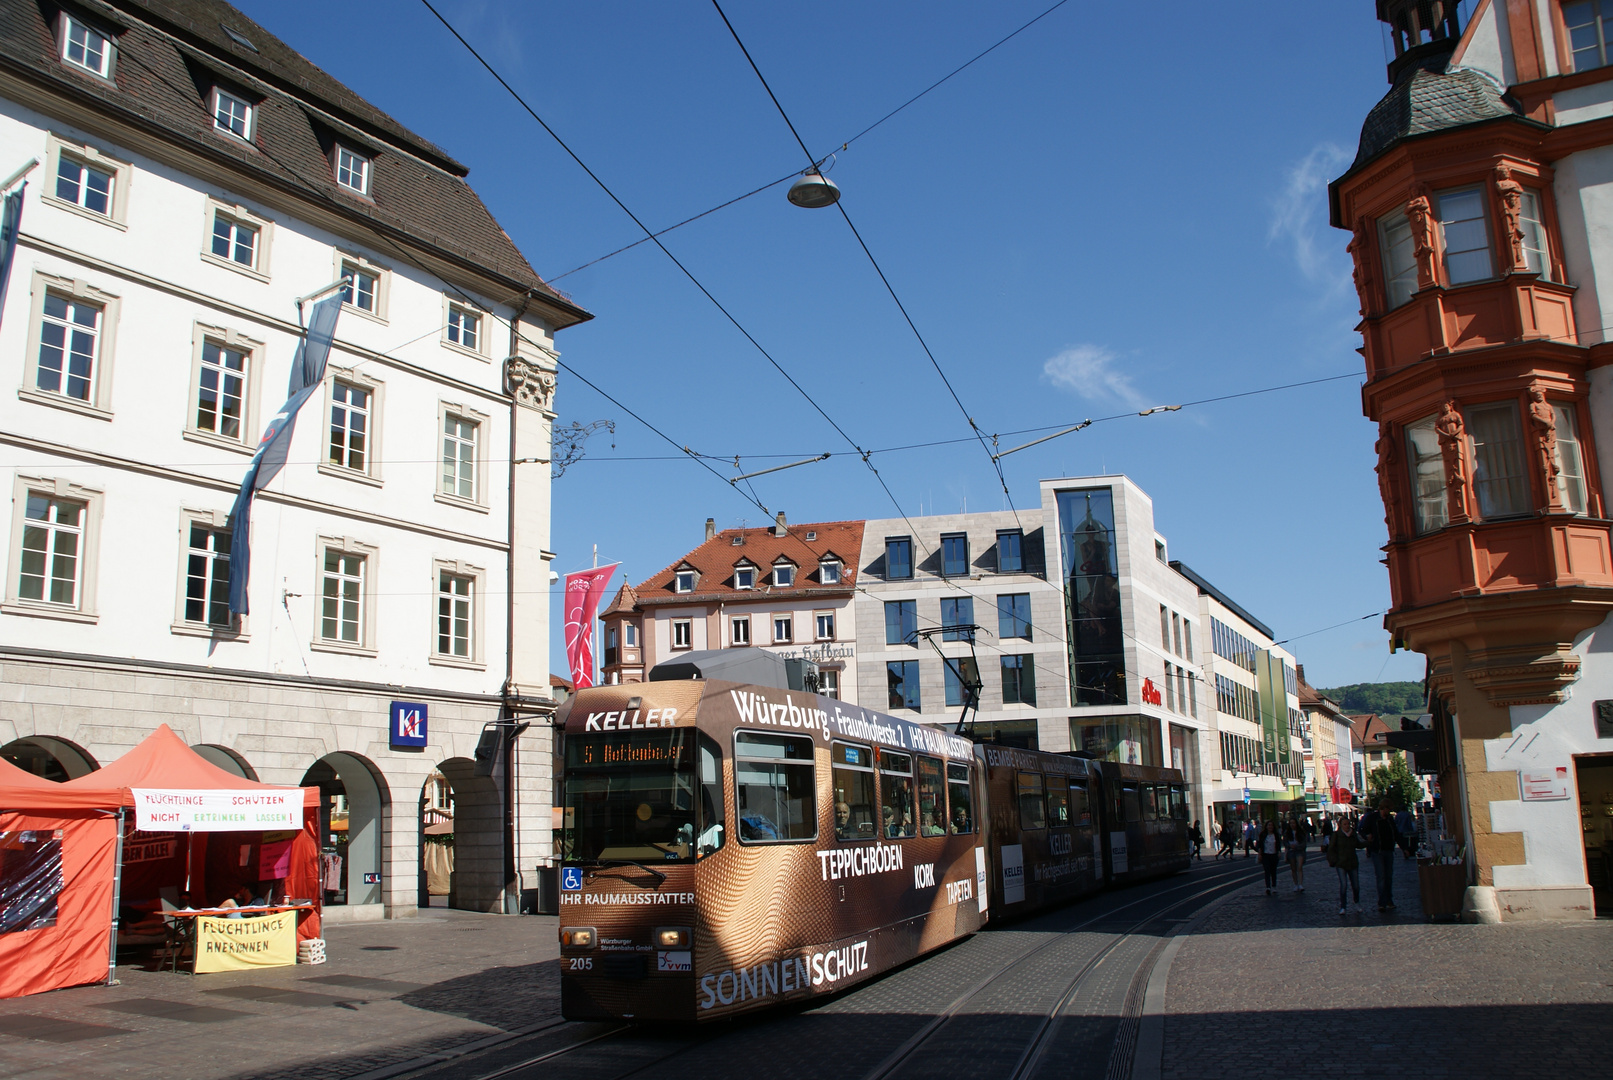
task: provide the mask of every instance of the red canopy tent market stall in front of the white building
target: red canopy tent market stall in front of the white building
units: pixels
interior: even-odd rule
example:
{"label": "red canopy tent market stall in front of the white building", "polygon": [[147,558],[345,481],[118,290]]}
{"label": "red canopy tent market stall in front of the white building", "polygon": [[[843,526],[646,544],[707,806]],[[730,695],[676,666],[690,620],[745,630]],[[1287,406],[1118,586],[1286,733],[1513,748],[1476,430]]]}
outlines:
{"label": "red canopy tent market stall in front of the white building", "polygon": [[[155,899],[163,875],[182,869],[185,888],[198,893],[200,903],[268,879],[284,879],[287,896],[318,903],[319,788],[302,788],[302,829],[276,845],[261,843],[261,832],[240,825],[200,832],[200,840],[194,833],[137,833],[127,811],[142,790],[250,796],[289,788],[219,769],[166,724],[110,766],[66,783],[0,761],[0,998],[106,978],[119,885],[150,890]],[[245,840],[248,835],[258,840]],[[134,854],[127,867],[121,866],[119,840]],[[200,895],[203,890],[221,895]],[[126,901],[131,898],[126,891]],[[297,937],[319,937],[318,911],[302,919]]]}

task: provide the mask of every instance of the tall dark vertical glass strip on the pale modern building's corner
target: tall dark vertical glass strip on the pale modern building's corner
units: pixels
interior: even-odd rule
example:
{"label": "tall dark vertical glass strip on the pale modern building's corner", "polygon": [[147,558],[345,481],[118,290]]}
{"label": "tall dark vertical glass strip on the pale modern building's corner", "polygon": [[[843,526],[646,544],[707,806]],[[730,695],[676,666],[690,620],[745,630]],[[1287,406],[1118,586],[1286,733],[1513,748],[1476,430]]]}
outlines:
{"label": "tall dark vertical glass strip on the pale modern building's corner", "polygon": [[[1058,492],[1058,532],[1066,580],[1071,704],[1126,704],[1113,490]],[[1153,746],[1158,758],[1158,738]]]}

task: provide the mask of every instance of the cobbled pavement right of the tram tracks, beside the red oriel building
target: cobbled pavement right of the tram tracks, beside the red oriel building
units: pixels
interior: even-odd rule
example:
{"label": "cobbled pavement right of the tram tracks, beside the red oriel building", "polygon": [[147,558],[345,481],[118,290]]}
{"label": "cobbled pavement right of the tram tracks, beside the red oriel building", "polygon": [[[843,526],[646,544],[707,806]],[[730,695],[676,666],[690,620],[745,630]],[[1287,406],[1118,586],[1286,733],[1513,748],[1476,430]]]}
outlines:
{"label": "cobbled pavement right of the tram tracks, beside the red oriel building", "polygon": [[1311,853],[1307,891],[1284,867],[1276,896],[1257,882],[1194,928],[1169,970],[1168,1080],[1613,1074],[1613,922],[1436,924],[1415,862],[1395,859],[1390,912],[1360,874],[1360,914],[1339,916]]}

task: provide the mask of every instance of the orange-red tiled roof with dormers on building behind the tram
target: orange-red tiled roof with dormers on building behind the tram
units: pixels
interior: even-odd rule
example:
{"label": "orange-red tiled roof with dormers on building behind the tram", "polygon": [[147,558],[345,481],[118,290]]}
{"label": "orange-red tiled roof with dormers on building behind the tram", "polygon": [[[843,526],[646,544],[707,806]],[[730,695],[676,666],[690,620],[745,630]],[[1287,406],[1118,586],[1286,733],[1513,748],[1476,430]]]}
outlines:
{"label": "orange-red tiled roof with dormers on building behind the tram", "polygon": [[[811,534],[813,538],[806,538]],[[773,527],[724,529],[698,548],[671,563],[636,585],[637,606],[668,603],[700,603],[702,600],[736,600],[742,596],[848,596],[857,587],[857,563],[863,555],[863,522],[823,521],[789,525],[786,535],[774,535]],[[826,556],[840,561],[840,580],[836,585],[818,582],[818,567]],[[748,561],[756,567],[755,588],[734,588],[734,566]],[[773,587],[768,575],[774,561],[787,559],[795,566],[795,584]],[[695,588],[690,593],[673,592],[676,572],[694,569]],[[626,592],[626,590],[624,590]],[[616,596],[623,600],[621,595]],[[613,603],[611,611],[616,609]]]}

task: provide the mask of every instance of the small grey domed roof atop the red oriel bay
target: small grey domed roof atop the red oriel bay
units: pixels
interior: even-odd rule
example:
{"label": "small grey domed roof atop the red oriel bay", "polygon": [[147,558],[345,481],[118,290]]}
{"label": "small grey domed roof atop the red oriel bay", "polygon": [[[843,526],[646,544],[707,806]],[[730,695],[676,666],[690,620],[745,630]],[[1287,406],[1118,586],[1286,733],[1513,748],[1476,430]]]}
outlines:
{"label": "small grey domed roof atop the red oriel bay", "polygon": [[1361,143],[1350,171],[1361,168],[1403,139],[1436,131],[1518,118],[1523,111],[1503,97],[1503,87],[1482,71],[1450,68],[1448,52],[1407,64],[1394,89],[1361,124]]}

